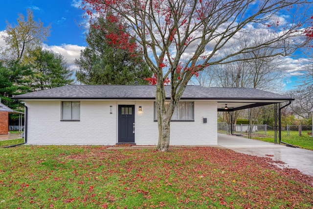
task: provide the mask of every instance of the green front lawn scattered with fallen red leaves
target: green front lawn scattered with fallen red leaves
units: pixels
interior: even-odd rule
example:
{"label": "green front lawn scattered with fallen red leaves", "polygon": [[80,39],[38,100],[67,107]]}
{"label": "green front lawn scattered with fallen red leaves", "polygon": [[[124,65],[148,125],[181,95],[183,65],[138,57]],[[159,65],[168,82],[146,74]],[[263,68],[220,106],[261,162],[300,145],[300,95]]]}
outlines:
{"label": "green front lawn scattered with fallen red leaves", "polygon": [[211,147],[106,148],[0,148],[0,208],[313,207],[313,177],[270,158]]}

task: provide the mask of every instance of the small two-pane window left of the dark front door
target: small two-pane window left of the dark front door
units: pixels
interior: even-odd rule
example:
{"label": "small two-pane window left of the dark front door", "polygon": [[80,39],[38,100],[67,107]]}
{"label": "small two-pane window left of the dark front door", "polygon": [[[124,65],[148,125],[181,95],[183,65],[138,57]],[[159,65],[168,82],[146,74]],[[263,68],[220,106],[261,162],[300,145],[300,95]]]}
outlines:
{"label": "small two-pane window left of the dark front door", "polygon": [[61,120],[80,120],[80,102],[62,102]]}

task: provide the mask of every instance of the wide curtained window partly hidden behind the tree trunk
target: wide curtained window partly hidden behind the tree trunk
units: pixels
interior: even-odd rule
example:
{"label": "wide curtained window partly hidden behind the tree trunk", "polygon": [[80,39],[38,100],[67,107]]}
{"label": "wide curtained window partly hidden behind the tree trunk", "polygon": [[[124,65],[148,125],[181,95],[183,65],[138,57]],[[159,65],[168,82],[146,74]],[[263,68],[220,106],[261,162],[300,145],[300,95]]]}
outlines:
{"label": "wide curtained window partly hidden behind the tree trunk", "polygon": [[[169,102],[165,102],[165,108],[167,108]],[[157,120],[156,116],[156,103],[154,108],[154,120]],[[174,110],[172,121],[194,121],[194,102],[179,102]]]}

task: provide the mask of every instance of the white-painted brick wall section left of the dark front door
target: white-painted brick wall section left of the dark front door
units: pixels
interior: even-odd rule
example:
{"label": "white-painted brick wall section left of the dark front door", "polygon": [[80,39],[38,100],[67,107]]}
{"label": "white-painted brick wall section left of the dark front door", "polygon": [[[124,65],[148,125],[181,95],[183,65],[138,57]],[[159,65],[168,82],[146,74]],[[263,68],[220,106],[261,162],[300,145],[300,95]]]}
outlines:
{"label": "white-painted brick wall section left of the dark front door", "polygon": [[81,101],[80,121],[60,121],[61,101],[27,101],[25,105],[29,144],[116,143],[116,101]]}

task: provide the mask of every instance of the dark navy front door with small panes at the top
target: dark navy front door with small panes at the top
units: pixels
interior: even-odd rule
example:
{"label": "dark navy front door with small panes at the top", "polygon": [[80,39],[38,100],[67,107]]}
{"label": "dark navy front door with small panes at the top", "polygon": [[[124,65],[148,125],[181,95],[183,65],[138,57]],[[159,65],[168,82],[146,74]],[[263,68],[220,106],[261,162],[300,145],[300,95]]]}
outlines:
{"label": "dark navy front door with small panes at the top", "polygon": [[118,105],[118,143],[135,142],[134,109],[134,105]]}

